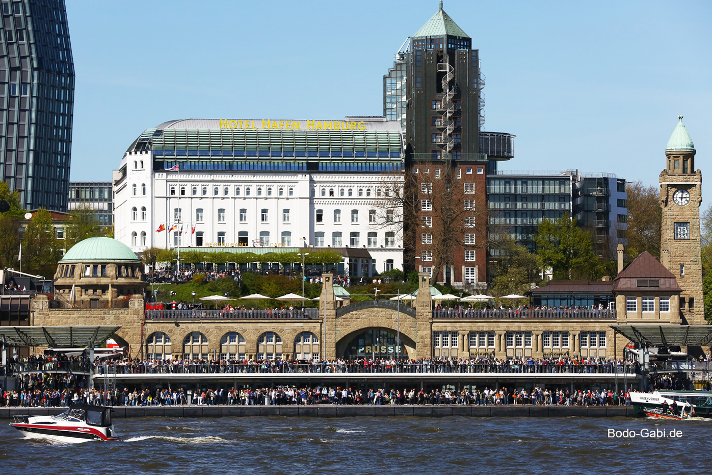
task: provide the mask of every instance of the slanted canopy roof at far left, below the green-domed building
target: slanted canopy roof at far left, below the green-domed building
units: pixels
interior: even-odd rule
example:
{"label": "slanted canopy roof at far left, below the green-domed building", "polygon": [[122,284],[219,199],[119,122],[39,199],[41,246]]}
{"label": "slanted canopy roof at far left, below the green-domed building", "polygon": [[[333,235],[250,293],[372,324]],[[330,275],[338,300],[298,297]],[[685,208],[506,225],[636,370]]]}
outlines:
{"label": "slanted canopy roof at far left, below the green-domed building", "polygon": [[98,327],[0,327],[0,343],[9,347],[85,348],[105,342],[119,325]]}

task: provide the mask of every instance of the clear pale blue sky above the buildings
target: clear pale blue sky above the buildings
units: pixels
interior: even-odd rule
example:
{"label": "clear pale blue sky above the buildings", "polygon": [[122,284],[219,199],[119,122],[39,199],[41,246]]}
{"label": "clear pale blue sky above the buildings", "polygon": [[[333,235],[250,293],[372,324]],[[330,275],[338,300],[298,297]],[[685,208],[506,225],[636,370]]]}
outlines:
{"label": "clear pale blue sky above the buildings", "polygon": [[[72,180],[110,180],[132,141],[170,119],[382,115],[383,74],[438,6],[66,1]],[[711,183],[712,2],[445,0],[444,9],[480,51],[486,130],[517,136],[502,169],[655,184],[682,114]]]}

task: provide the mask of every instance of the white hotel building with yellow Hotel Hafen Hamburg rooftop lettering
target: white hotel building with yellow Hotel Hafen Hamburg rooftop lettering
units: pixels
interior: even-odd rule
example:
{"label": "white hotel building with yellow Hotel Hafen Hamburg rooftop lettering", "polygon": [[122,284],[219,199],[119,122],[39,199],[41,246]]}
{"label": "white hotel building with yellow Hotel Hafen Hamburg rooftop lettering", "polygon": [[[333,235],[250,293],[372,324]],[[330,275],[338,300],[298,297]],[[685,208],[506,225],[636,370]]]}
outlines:
{"label": "white hotel building with yellow Hotel Hafen Hamburg rooftop lettering", "polygon": [[115,237],[135,252],[332,247],[352,277],[402,269],[399,225],[375,216],[402,160],[400,125],[384,118],[169,121],[114,170]]}

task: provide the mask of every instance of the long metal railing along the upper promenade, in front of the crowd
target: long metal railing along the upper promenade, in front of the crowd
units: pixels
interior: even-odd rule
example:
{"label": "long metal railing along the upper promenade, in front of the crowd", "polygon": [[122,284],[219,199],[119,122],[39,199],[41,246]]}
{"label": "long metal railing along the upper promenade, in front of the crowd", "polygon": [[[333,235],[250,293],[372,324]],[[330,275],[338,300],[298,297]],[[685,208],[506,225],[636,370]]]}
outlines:
{"label": "long metal railing along the upper promenade, in front of the crowd", "polygon": [[[420,362],[397,364],[100,364],[96,374],[615,374],[616,364],[513,364],[510,362]],[[115,368],[115,369],[114,369]],[[114,373],[116,371],[116,373]],[[618,374],[635,374],[639,367],[618,365]]]}

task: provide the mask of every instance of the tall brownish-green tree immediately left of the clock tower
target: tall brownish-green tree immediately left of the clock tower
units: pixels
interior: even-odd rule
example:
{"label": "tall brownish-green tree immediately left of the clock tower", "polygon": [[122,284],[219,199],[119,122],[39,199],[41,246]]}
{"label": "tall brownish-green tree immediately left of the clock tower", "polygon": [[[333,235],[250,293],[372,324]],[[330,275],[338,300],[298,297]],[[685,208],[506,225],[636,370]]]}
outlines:
{"label": "tall brownish-green tree immediately left of the clock tower", "polygon": [[628,193],[628,259],[633,259],[643,251],[656,258],[660,257],[660,230],[662,208],[660,190],[655,185],[643,185],[634,181],[626,186]]}

